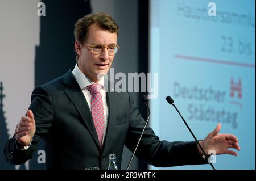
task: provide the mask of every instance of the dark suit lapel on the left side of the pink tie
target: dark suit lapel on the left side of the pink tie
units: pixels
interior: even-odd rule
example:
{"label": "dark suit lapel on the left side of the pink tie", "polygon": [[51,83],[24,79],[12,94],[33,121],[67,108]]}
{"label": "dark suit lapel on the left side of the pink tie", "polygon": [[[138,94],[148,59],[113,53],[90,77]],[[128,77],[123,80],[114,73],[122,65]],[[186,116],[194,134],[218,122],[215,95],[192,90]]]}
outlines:
{"label": "dark suit lapel on the left side of the pink tie", "polygon": [[98,141],[97,132],[93,123],[92,113],[90,112],[90,108],[84,94],[76,82],[75,77],[73,77],[71,70],[69,70],[64,77],[64,85],[66,86],[64,89],[65,94],[67,94],[68,98],[82,116],[86,127],[88,127],[94,141],[97,142],[97,145],[100,148],[100,142]]}

